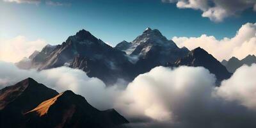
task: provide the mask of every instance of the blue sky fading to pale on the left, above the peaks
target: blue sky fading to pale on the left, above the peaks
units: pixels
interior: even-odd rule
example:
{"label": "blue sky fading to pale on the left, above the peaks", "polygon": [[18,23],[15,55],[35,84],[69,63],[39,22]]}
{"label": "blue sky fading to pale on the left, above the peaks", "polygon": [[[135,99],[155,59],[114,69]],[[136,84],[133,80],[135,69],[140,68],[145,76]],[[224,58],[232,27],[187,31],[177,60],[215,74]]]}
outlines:
{"label": "blue sky fading to pale on the left, above the peaks", "polygon": [[63,6],[6,3],[0,0],[0,37],[43,38],[49,44],[61,44],[80,29],[116,45],[132,41],[145,28],[159,29],[164,36],[213,35],[232,37],[246,22],[256,22],[256,13],[246,10],[223,22],[212,22],[202,12],[179,9],[161,0],[66,0]]}

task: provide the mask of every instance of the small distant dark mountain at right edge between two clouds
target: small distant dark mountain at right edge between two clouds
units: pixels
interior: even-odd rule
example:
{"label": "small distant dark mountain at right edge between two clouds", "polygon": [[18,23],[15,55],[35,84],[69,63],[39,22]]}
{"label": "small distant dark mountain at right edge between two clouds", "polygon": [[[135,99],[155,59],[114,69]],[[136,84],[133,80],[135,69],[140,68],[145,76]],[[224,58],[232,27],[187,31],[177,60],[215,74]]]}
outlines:
{"label": "small distant dark mountain at right edge between two clouds", "polygon": [[252,65],[252,63],[256,63],[255,55],[248,55],[243,60],[239,60],[236,57],[230,58],[230,60],[223,60],[221,64],[224,65],[229,72],[234,73],[237,68],[243,65]]}

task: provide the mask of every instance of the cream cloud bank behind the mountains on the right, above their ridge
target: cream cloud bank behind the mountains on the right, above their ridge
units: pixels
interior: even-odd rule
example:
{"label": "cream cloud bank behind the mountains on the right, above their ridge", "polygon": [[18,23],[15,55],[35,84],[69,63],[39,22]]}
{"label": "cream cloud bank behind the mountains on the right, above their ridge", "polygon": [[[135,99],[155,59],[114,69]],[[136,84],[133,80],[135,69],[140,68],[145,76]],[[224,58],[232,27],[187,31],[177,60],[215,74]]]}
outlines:
{"label": "cream cloud bank behind the mountains on the right, above their ridge", "polygon": [[179,47],[189,50],[202,47],[218,60],[228,60],[232,56],[243,59],[248,54],[256,54],[256,23],[246,23],[237,31],[233,38],[217,40],[214,36],[173,37]]}

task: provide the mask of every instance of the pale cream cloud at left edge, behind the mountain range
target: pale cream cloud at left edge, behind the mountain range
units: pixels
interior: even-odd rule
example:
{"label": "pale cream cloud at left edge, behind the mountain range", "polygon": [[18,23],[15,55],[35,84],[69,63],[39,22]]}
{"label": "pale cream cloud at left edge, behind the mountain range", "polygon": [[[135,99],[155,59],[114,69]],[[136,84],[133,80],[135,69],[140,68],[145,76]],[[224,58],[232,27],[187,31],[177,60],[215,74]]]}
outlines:
{"label": "pale cream cloud at left edge, behind the mountain range", "polygon": [[40,51],[46,45],[42,39],[29,41],[24,36],[12,39],[0,39],[0,61],[17,62],[30,56],[34,51]]}

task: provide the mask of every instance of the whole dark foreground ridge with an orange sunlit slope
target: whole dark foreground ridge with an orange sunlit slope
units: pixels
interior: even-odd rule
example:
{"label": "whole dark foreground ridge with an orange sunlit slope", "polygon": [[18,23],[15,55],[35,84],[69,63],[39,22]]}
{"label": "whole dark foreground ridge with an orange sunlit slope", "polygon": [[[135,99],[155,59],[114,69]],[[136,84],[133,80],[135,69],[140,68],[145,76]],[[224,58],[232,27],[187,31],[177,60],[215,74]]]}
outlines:
{"label": "whole dark foreground ridge with an orange sunlit slope", "polygon": [[0,90],[0,127],[122,127],[115,109],[99,111],[72,91],[58,93],[28,78]]}

